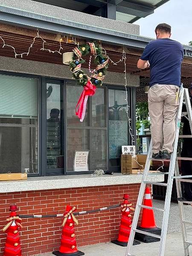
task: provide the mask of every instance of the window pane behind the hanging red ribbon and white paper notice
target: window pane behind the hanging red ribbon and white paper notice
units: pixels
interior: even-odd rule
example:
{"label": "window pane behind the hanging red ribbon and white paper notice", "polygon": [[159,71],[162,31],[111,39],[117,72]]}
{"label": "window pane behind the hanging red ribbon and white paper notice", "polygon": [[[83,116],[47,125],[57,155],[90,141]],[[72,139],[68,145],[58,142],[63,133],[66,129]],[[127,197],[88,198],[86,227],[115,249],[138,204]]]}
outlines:
{"label": "window pane behind the hanging red ribbon and white paper notice", "polygon": [[73,172],[76,150],[90,150],[89,169],[107,169],[106,88],[96,89],[89,97],[83,122],[79,122],[75,108],[83,88],[72,82],[67,90],[67,171]]}

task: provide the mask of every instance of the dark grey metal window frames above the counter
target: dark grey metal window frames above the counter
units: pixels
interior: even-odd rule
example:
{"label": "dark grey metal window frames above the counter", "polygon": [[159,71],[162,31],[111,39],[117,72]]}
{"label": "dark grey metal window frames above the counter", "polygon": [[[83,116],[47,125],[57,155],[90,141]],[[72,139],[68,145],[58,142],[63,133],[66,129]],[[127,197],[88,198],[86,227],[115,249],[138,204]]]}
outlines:
{"label": "dark grey metal window frames above the counter", "polygon": [[[47,76],[37,76],[24,73],[15,73],[0,71],[0,74],[9,75],[9,76],[20,76],[26,78],[35,78],[38,79],[38,173],[32,174],[29,173],[28,177],[38,177],[38,176],[53,176],[53,175],[79,175],[79,174],[91,174],[92,171],[88,172],[74,172],[67,171],[67,82],[75,83],[73,79],[59,79],[52,78]],[[47,96],[46,96],[46,86],[47,82],[60,83],[64,87],[64,101],[63,101],[63,111],[64,118],[62,127],[64,130],[63,136],[63,150],[64,150],[64,168],[61,169],[47,169]],[[109,170],[109,106],[108,106],[108,90],[125,90],[125,87],[121,85],[112,85],[112,84],[103,84],[102,87],[105,90],[105,102],[106,102],[106,127],[97,128],[97,127],[82,127],[81,129],[89,130],[106,130],[106,139],[107,139],[107,169]],[[136,143],[136,97],[135,97],[135,87],[127,87],[128,89],[128,102],[129,102],[129,116],[132,119],[131,128],[134,131],[134,141]],[[91,101],[90,101],[91,103]],[[128,133],[128,144],[131,143],[131,136]],[[116,166],[115,166],[116,167]],[[120,172],[119,166],[114,168],[113,172]],[[47,171],[49,170],[49,171]]]}

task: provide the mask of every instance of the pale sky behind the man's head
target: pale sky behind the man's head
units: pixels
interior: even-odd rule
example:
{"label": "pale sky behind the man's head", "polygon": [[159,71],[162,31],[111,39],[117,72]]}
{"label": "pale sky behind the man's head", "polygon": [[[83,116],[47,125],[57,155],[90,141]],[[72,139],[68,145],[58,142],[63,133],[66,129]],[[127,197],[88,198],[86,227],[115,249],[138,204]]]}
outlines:
{"label": "pale sky behind the man's head", "polygon": [[192,41],[192,0],[169,0],[145,18],[137,20],[140,35],[155,38],[154,29],[159,23],[172,26],[172,39],[182,44]]}

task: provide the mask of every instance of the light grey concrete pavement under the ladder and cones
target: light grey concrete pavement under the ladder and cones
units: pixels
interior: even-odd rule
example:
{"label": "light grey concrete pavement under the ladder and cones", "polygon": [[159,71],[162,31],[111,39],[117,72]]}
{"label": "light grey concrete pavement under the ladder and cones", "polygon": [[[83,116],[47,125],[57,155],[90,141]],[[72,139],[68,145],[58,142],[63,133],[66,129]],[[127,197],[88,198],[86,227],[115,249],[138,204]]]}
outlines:
{"label": "light grey concrete pavement under the ladder and cones", "polygon": [[[157,208],[164,207],[164,201],[153,200],[153,206]],[[192,207],[184,205],[185,218],[192,221]],[[157,227],[162,226],[163,213],[154,211]],[[192,241],[192,227],[187,225],[189,234],[188,240]],[[159,242],[134,246],[133,254],[135,256],[158,256]],[[94,244],[79,247],[79,250],[85,253],[85,256],[125,256],[126,247],[120,247],[112,243]],[[190,248],[192,256],[192,246]],[[52,253],[44,253],[38,256],[53,256]],[[180,218],[178,212],[178,204],[171,203],[169,213],[168,235],[166,242],[165,256],[185,256],[183,250],[182,236],[180,233]]]}

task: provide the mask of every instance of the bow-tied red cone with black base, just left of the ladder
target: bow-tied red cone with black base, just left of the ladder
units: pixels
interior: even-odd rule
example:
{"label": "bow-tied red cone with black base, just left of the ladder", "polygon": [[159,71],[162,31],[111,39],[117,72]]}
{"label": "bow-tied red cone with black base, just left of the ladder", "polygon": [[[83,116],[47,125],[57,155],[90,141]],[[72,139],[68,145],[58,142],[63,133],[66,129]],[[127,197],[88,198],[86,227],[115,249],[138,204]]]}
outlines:
{"label": "bow-tied red cone with black base, just left of the ladder", "polygon": [[[121,223],[119,227],[119,236],[117,240],[111,241],[113,244],[117,244],[120,246],[127,246],[128,239],[131,231],[131,214],[130,209],[134,210],[132,207],[132,204],[129,204],[129,195],[125,194],[123,196],[124,202],[121,205],[122,207],[122,217],[121,217]],[[140,244],[139,241],[134,240],[133,245]]]}

